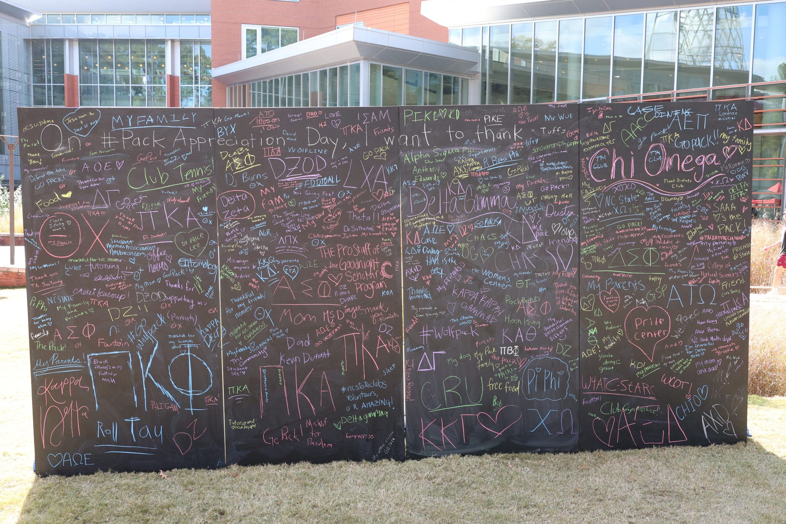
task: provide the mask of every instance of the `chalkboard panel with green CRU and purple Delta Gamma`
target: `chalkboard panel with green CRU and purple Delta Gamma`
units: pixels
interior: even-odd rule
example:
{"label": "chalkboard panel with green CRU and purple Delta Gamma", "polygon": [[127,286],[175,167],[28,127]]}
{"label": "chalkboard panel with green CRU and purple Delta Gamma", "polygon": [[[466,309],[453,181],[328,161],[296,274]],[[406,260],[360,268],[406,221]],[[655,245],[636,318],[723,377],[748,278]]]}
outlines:
{"label": "chalkboard panel with green CRU and purple Delta Gamma", "polygon": [[401,108],[407,450],[578,446],[578,105]]}

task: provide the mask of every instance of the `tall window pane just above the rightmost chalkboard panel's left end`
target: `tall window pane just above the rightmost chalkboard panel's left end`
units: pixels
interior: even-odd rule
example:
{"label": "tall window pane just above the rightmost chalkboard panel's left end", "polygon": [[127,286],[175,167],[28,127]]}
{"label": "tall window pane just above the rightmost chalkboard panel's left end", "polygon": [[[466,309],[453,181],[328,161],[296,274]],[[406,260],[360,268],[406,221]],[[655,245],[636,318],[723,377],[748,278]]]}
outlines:
{"label": "tall window pane just above the rightmost chalkboard panel's left end", "polygon": [[612,66],[612,17],[586,19],[583,98],[608,97]]}

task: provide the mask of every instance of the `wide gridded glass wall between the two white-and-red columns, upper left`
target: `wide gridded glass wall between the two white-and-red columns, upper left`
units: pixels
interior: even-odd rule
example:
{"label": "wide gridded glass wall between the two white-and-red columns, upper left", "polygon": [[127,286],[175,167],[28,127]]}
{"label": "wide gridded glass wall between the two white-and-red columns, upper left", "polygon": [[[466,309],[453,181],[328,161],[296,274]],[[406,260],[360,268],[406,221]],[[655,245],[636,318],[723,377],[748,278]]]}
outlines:
{"label": "wide gridded glass wall between the two white-and-red columns, upper left", "polygon": [[80,40],[79,104],[167,105],[163,40]]}

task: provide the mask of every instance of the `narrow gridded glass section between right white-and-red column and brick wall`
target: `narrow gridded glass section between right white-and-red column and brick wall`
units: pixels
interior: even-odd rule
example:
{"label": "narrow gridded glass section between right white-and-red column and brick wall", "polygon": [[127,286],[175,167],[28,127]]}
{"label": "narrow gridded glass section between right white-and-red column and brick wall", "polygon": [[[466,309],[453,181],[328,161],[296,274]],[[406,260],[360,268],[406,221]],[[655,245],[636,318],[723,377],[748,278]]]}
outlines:
{"label": "narrow gridded glass section between right white-and-red column and brick wall", "polygon": [[181,107],[211,107],[213,105],[212,90],[210,40],[181,40]]}

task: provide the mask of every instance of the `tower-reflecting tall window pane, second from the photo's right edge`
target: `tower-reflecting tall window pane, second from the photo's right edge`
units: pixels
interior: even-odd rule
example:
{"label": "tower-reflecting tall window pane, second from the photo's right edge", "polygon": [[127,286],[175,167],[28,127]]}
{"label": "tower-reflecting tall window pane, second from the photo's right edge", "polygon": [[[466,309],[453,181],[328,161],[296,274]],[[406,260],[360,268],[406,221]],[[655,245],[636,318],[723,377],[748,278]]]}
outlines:
{"label": "tower-reflecting tall window pane, second from the photo's right edge", "polygon": [[713,86],[747,84],[752,21],[752,5],[718,7]]}

